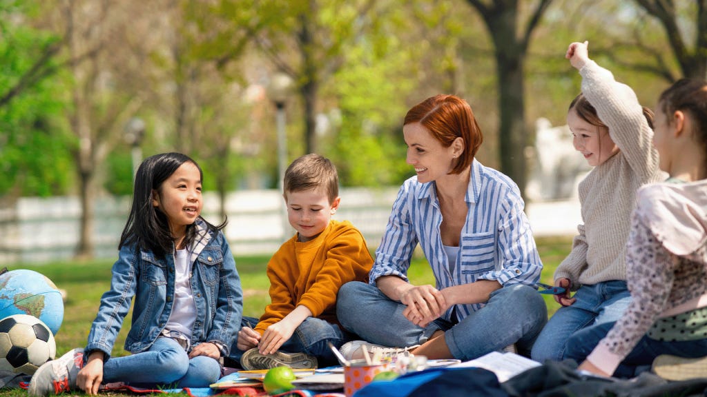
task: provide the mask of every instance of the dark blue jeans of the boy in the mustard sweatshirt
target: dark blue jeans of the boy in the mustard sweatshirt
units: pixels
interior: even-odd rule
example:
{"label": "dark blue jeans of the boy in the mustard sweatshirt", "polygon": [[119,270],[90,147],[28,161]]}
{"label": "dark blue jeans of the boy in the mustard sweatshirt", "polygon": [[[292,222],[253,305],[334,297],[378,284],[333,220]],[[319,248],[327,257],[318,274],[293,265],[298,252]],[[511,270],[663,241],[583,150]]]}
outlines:
{"label": "dark blue jeans of the boy in the mustard sweatshirt", "polygon": [[[241,326],[255,328],[258,324],[258,319],[255,317],[243,316],[240,322]],[[285,342],[279,350],[284,352],[303,352],[308,355],[317,357],[320,367],[328,365],[336,365],[337,357],[329,348],[329,343],[332,343],[335,348],[341,348],[341,345],[353,339],[351,334],[341,330],[336,324],[331,324],[326,320],[317,319],[315,317],[307,317],[302,324],[297,327],[291,338]],[[236,342],[233,340],[233,346],[230,348],[230,358],[240,362],[240,356],[243,355],[242,350],[238,350]]]}

